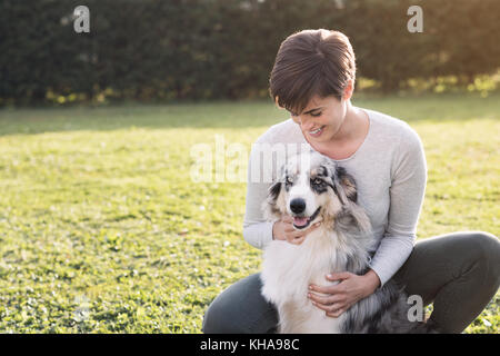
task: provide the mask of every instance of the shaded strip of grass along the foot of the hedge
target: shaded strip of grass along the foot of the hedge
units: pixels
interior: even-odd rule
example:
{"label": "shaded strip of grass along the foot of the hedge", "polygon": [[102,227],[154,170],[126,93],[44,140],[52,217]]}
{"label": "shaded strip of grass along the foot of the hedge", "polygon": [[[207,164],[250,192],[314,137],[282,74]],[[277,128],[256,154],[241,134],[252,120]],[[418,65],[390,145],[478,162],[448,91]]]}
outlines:
{"label": "shaded strip of grass along the foot of the hedge", "polygon": [[[409,122],[500,119],[500,92],[487,98],[464,93],[418,97],[359,95],[352,102]],[[276,108],[270,100],[2,109],[0,136],[128,128],[269,127],[288,117],[286,110]]]}

